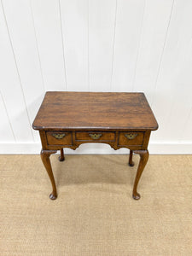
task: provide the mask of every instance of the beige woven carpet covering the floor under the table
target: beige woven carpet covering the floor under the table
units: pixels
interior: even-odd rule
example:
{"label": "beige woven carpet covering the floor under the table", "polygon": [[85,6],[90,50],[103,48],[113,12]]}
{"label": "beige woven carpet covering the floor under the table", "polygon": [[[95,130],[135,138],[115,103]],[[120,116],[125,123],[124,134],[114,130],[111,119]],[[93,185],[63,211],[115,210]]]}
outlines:
{"label": "beige woven carpet covering the floor under the table", "polygon": [[192,155],[151,155],[131,198],[127,155],[1,155],[0,255],[192,255]]}

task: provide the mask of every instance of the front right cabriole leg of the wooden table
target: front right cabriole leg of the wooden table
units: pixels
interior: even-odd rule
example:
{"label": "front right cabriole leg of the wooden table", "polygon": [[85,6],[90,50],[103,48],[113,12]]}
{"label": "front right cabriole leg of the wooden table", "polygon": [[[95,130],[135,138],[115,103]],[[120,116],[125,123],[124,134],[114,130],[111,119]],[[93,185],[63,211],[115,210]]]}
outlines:
{"label": "front right cabriole leg of the wooden table", "polygon": [[137,184],[139,183],[139,180],[140,180],[140,177],[142,176],[144,167],[146,166],[146,164],[148,162],[148,155],[149,154],[148,154],[148,150],[134,150],[134,153],[140,155],[140,161],[139,161],[139,166],[138,166],[138,169],[137,169],[135,183],[134,183],[134,186],[133,186],[132,197],[135,200],[139,200],[141,196],[137,193]]}

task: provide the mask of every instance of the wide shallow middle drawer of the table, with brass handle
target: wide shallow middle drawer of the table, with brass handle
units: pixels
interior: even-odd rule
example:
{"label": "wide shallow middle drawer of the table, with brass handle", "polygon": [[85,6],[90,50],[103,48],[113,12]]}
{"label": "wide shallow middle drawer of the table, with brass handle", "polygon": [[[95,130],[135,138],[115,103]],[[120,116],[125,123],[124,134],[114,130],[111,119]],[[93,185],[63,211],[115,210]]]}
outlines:
{"label": "wide shallow middle drawer of the table, with brass handle", "polygon": [[76,141],[87,141],[87,142],[114,142],[115,132],[106,131],[76,131]]}

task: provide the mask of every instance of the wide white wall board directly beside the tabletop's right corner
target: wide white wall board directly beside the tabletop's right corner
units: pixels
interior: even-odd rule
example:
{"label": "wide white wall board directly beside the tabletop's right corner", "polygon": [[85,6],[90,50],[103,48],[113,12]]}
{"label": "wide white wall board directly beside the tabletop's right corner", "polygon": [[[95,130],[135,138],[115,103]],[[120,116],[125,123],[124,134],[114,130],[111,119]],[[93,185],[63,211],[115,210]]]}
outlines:
{"label": "wide white wall board directly beside the tabletop's right corner", "polygon": [[186,67],[191,60],[189,46],[192,38],[192,2],[175,0],[167,33],[160,74],[156,84],[153,108],[160,122],[158,140],[181,139],[183,124],[191,106],[191,75]]}

